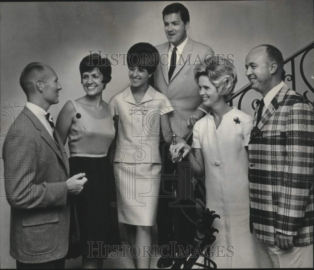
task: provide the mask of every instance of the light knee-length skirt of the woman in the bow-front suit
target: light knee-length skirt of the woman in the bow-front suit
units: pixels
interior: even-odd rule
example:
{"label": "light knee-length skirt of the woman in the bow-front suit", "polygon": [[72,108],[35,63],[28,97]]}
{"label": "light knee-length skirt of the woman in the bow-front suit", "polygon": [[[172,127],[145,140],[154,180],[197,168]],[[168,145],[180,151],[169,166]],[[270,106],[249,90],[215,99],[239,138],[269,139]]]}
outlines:
{"label": "light knee-length skirt of the woman in the bow-front suit", "polygon": [[119,222],[140,226],[155,225],[161,164],[115,162],[113,167]]}

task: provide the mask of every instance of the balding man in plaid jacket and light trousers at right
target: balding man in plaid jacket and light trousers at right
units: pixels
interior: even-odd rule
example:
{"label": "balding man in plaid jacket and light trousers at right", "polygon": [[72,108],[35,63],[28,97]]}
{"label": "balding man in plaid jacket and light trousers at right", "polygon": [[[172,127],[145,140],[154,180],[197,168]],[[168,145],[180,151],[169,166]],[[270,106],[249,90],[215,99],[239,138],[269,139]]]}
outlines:
{"label": "balding man in plaid jacket and light trousers at right", "polygon": [[313,267],[313,106],[281,80],[283,57],[274,46],[253,48],[245,66],[263,95],[249,142],[258,267]]}

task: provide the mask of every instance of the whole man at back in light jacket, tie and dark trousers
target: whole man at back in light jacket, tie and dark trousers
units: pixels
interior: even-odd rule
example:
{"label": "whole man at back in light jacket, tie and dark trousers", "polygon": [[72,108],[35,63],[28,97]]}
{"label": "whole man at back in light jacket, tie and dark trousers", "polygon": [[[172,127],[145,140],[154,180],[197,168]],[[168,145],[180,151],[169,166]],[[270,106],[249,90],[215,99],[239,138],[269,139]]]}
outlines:
{"label": "whole man at back in light jacket, tie and dark trousers", "polygon": [[[171,126],[176,135],[181,137],[189,131],[189,127],[208,112],[208,107],[202,104],[203,100],[198,94],[198,85],[194,80],[193,72],[194,67],[205,57],[212,57],[214,51],[211,47],[187,36],[190,15],[184,5],[170,4],[164,8],[162,15],[168,42],[156,46],[160,53],[160,64],[153,76],[153,86],[166,95],[175,106]],[[165,160],[168,156],[168,148],[163,147],[161,151],[164,156],[163,174],[169,174],[168,166],[171,161]],[[167,179],[162,181],[160,195],[163,197],[159,200],[157,216],[158,238],[160,245],[168,245],[174,240],[173,208],[169,207],[171,199],[165,196],[169,194],[167,192],[171,192],[172,183]],[[192,189],[192,186],[190,188]],[[195,215],[195,208],[189,208],[187,211],[191,212],[191,216]],[[183,218],[182,221],[186,219]],[[190,244],[194,240],[194,233],[190,229],[180,232]],[[172,263],[171,258],[165,257],[158,261],[157,266],[169,267]]]}

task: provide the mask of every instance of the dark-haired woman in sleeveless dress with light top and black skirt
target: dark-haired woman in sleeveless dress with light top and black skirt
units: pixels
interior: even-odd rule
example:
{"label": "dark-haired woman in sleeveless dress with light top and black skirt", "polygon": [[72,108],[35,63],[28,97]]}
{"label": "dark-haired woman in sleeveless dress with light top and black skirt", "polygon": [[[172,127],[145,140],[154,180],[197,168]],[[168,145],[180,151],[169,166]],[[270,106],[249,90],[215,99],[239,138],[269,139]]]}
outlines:
{"label": "dark-haired woman in sleeveless dress with light top and black skirt", "polygon": [[[110,246],[120,244],[116,207],[116,186],[111,150],[116,138],[115,108],[102,99],[111,80],[111,64],[98,54],[83,58],[79,65],[86,93],[69,100],[58,115],[56,128],[63,143],[68,138],[70,175],[83,170],[88,177],[84,189],[74,196],[80,241],[70,243],[68,258],[82,255],[82,268],[102,268]],[[117,122],[116,122],[117,123]],[[89,257],[92,248],[102,246],[99,257]],[[108,248],[107,248],[108,247]],[[97,252],[96,252],[97,253]]]}

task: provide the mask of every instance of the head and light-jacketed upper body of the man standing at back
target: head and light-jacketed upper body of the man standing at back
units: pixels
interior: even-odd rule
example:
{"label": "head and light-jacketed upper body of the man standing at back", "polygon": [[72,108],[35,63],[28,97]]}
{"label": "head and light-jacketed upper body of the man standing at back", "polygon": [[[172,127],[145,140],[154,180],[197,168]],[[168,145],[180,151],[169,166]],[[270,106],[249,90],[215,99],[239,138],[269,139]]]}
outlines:
{"label": "head and light-jacketed upper body of the man standing at back", "polygon": [[[211,47],[187,36],[190,15],[185,6],[180,3],[170,4],[165,7],[162,14],[168,42],[156,46],[160,53],[160,64],[154,72],[154,88],[179,107],[175,115],[176,120],[172,119],[171,124],[177,136],[183,136],[191,124],[208,112],[208,107],[202,104],[203,100],[198,94],[198,85],[193,72],[194,67],[204,57],[212,57],[214,51]],[[174,48],[176,63],[169,78]]]}

